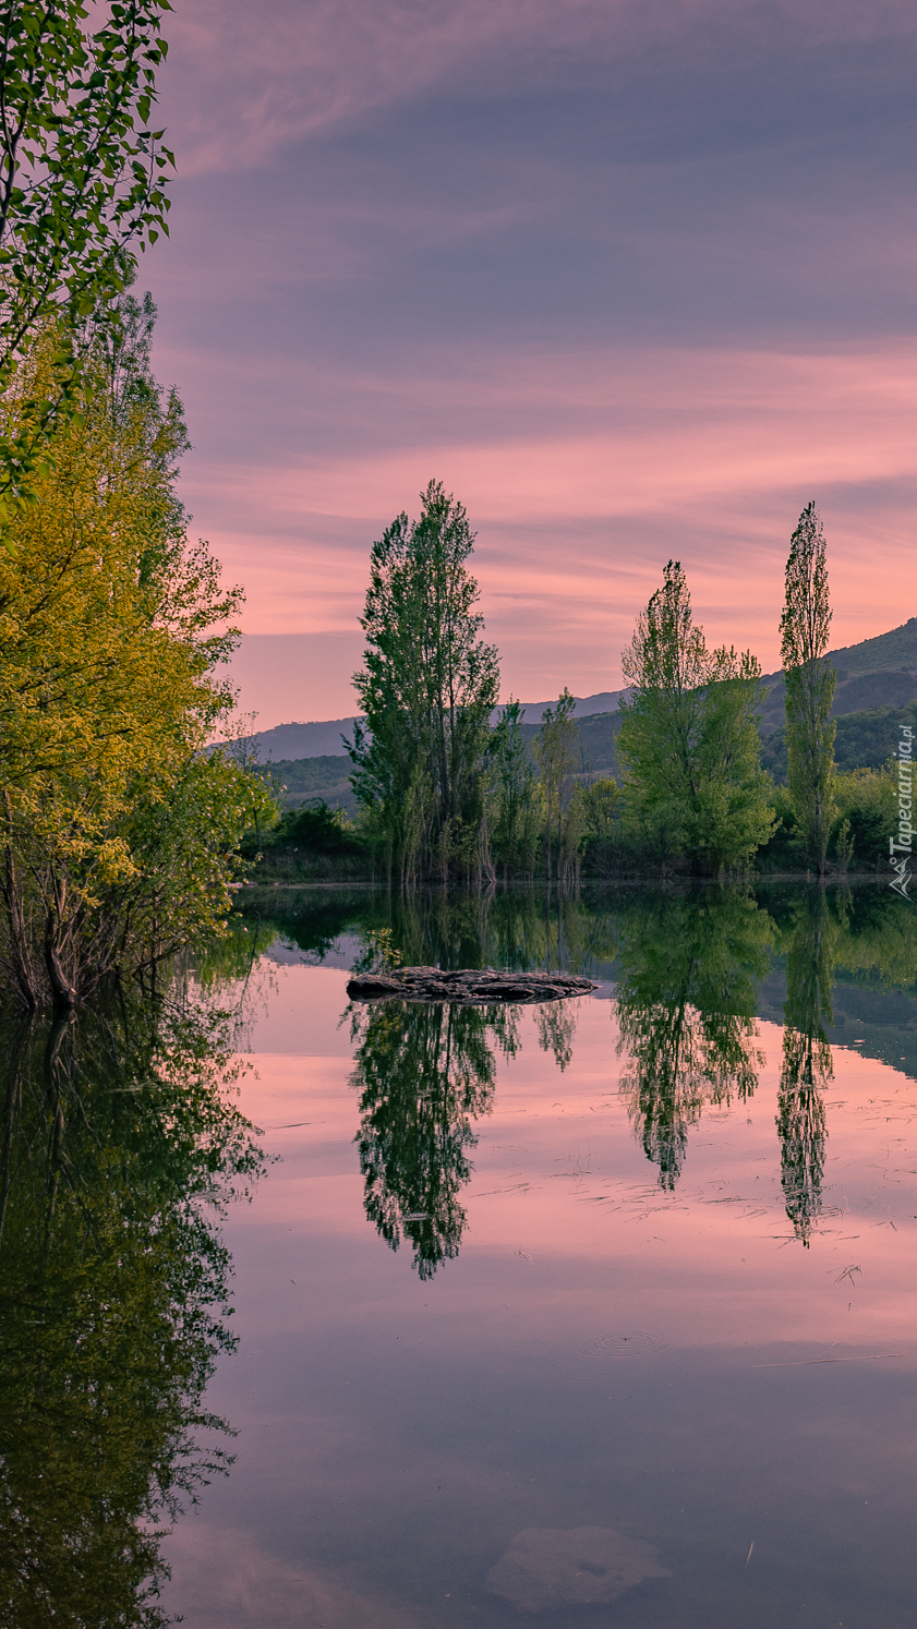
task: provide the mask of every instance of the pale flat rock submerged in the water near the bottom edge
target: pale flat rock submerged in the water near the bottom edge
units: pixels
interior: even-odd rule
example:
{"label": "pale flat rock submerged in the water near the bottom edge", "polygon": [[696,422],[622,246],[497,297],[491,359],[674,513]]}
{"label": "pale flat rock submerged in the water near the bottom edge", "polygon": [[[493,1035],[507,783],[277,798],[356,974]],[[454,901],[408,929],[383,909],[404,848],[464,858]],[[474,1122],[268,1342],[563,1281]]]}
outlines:
{"label": "pale flat rock submerged in the water near the bottom edge", "polygon": [[526,1528],[487,1574],[518,1611],[604,1606],[645,1579],[668,1579],[652,1544],[614,1528]]}

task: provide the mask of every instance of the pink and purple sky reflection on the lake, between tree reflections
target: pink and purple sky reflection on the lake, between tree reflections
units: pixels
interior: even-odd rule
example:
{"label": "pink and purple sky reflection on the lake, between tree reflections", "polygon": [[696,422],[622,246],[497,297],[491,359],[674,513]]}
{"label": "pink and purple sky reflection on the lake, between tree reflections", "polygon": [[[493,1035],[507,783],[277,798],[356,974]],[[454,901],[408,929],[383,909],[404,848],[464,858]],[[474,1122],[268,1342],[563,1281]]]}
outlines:
{"label": "pink and purple sky reflection on the lake, between tree reflections", "polygon": [[[702,1104],[666,1186],[616,1003],[565,1003],[564,1069],[523,1010],[467,1114],[461,1248],[423,1277],[415,1240],[391,1249],[366,1215],[345,971],[272,979],[243,1108],[280,1163],[230,1220],[241,1349],[213,1383],[238,1464],[174,1536],[176,1609],[498,1629],[536,1621],[541,1590],[549,1629],[772,1629],[803,1608],[904,1629],[917,1085],[831,1047],[800,1230],[779,1025],[752,1018],[754,1091]],[[578,1561],[606,1569],[595,1598]]]}

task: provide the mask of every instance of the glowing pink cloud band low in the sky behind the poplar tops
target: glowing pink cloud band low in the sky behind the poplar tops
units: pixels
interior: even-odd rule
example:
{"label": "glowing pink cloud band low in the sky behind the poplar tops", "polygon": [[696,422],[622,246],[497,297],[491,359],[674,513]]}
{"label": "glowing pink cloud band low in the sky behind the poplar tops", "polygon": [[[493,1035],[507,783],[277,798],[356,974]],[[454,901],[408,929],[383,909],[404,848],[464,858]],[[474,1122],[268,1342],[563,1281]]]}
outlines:
{"label": "glowing pink cloud band low in the sky behind the poplar tops", "polygon": [[[371,541],[401,508],[417,513],[432,476],[479,533],[490,637],[513,663],[528,642],[526,671],[549,661],[552,679],[573,660],[578,692],[617,683],[622,643],[669,555],[684,560],[709,634],[752,643],[775,666],[787,541],[811,497],[827,526],[837,640],[902,621],[917,345],[591,357],[505,347],[450,367],[448,388],[410,367],[388,381],[342,375],[339,397],[319,370],[324,411],[352,406],[347,453],[191,461],[187,498],[208,510],[228,575],[248,585],[246,627],[353,629]],[[867,582],[863,547],[884,562]],[[523,679],[511,671],[508,683]]]}

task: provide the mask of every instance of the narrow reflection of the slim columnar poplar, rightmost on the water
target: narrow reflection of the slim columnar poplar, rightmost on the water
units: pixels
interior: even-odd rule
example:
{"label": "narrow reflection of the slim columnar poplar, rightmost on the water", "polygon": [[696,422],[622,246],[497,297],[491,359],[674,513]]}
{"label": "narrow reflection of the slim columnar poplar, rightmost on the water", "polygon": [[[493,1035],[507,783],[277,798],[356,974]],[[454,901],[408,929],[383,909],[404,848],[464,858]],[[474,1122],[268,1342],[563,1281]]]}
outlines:
{"label": "narrow reflection of the slim columnar poplar, rightmost on the water", "polygon": [[824,1026],[832,1021],[836,938],[837,927],[824,889],[818,888],[796,906],[787,951],[783,1064],[777,1096],[783,1199],[793,1232],[806,1246],[821,1210],[826,1142],[823,1088],[834,1078]]}

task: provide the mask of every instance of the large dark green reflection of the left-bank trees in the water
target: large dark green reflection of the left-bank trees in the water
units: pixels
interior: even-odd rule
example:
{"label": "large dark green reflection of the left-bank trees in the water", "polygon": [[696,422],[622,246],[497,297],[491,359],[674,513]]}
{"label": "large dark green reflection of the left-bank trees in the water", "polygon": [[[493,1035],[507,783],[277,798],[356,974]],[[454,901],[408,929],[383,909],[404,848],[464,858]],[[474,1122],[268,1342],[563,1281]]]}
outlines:
{"label": "large dark green reflection of the left-bank trees in the water", "polygon": [[163,1525],[215,1469],[202,1407],[257,1175],[218,1021],[137,999],[3,1026],[0,1621],[165,1624]]}

